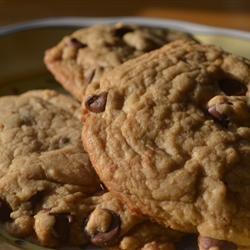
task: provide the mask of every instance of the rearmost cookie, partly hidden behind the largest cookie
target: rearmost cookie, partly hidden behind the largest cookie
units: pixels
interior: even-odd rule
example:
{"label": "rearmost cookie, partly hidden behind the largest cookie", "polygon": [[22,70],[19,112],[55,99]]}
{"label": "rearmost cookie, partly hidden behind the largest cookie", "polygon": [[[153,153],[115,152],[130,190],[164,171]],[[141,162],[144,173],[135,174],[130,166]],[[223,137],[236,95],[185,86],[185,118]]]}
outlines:
{"label": "rearmost cookie, partly hidden behind the largest cookie", "polygon": [[99,86],[100,77],[123,62],[190,35],[136,25],[99,25],[65,37],[45,55],[59,83],[79,101]]}

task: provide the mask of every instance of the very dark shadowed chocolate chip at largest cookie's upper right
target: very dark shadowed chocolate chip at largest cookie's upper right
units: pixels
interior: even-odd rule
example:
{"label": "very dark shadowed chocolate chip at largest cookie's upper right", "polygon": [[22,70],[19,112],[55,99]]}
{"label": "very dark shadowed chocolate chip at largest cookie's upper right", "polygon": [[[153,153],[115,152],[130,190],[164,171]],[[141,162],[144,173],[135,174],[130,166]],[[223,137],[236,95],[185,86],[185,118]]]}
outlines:
{"label": "very dark shadowed chocolate chip at largest cookie's upper right", "polygon": [[219,87],[226,95],[242,96],[247,92],[247,87],[242,82],[233,78],[223,78],[219,80]]}

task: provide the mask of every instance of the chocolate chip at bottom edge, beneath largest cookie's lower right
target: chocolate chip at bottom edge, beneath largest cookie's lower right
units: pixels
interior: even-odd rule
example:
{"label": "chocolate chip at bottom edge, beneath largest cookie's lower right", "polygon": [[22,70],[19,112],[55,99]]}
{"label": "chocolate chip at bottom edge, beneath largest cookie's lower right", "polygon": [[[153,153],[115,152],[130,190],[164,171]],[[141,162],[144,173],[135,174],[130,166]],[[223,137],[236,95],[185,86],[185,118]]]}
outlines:
{"label": "chocolate chip at bottom edge, beneath largest cookie's lower right", "polygon": [[237,250],[237,246],[228,241],[216,240],[209,237],[199,236],[198,244],[200,250],[218,249],[218,250]]}

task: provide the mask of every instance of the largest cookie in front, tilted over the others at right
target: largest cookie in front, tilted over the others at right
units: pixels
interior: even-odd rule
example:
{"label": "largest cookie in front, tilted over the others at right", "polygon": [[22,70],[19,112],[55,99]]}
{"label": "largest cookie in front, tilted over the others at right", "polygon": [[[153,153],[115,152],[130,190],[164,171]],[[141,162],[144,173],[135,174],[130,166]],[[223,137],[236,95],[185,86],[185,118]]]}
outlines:
{"label": "largest cookie in front, tilted over the others at right", "polygon": [[85,100],[85,149],[132,208],[201,241],[250,246],[249,85],[247,59],[172,42],[102,78]]}

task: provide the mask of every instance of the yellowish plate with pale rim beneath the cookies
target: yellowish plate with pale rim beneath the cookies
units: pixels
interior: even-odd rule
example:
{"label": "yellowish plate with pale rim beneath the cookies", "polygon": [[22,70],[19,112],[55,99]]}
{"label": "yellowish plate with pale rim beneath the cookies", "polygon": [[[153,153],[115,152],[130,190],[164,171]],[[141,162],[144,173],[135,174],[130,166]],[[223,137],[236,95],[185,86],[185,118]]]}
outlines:
{"label": "yellowish plate with pale rim beneath the cookies", "polygon": [[[218,45],[234,54],[250,58],[250,33],[209,27],[176,20],[119,18],[55,18],[0,28],[0,95],[19,94],[30,89],[63,89],[43,64],[44,51],[66,34],[79,27],[104,23],[135,23],[186,31],[203,43]],[[0,250],[48,250],[27,241],[15,239],[0,228]],[[63,248],[77,249],[77,248]],[[86,250],[97,250],[88,247]],[[181,250],[196,250],[187,247]],[[247,250],[247,249],[245,249]]]}

